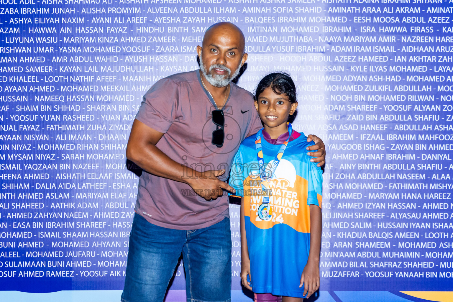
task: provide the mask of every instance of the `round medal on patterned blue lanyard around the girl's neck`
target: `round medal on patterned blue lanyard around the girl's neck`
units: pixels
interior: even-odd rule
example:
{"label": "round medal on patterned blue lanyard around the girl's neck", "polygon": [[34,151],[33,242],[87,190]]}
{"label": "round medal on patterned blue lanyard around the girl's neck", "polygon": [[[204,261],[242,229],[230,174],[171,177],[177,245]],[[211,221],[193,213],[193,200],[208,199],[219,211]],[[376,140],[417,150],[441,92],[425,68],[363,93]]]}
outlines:
{"label": "round medal on patterned blue lanyard around the girl's neck", "polygon": [[277,155],[275,155],[274,162],[272,163],[272,166],[270,168],[269,177],[266,176],[266,172],[264,170],[263,148],[261,147],[261,136],[263,134],[263,129],[260,129],[260,131],[258,131],[258,133],[256,134],[255,139],[256,157],[258,158],[258,166],[260,167],[261,190],[264,195],[263,201],[261,202],[261,205],[258,207],[258,217],[260,217],[260,219],[264,221],[269,221],[272,218],[272,208],[269,206],[269,196],[267,194],[266,185],[269,184],[269,180],[274,175],[275,169],[280,163],[280,159],[283,156],[284,150],[286,149],[286,146],[288,145],[289,142],[289,138],[291,137],[291,134],[293,132],[293,127],[291,126],[291,124],[286,123],[286,125],[288,125],[289,136],[288,139],[286,139],[284,143],[281,144],[279,152],[277,153]]}

